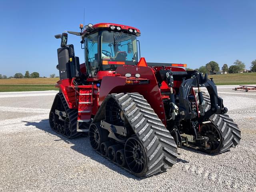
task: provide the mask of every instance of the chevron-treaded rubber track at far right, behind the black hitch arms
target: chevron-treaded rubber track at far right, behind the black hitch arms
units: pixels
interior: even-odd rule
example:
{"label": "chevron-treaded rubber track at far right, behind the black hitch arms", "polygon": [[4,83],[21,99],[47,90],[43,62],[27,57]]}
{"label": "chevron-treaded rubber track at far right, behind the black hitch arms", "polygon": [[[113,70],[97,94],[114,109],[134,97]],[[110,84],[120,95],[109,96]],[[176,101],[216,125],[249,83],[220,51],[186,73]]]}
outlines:
{"label": "chevron-treaded rubber track at far right, behind the black hitch arms", "polygon": [[[210,96],[202,92],[203,98],[206,101],[206,111],[210,109]],[[196,100],[198,101],[198,94],[196,91]],[[222,146],[216,153],[223,153],[230,148],[235,148],[241,140],[241,131],[238,125],[227,114],[214,114],[210,116],[210,121],[220,130],[222,136]]]}

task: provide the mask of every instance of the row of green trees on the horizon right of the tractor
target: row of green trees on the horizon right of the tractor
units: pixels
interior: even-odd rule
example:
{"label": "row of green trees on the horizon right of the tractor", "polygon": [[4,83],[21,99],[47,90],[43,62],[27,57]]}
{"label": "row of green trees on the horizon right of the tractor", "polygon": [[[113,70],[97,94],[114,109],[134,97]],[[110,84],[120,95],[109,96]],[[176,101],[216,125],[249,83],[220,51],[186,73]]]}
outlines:
{"label": "row of green trees on the horizon right of the tractor", "polygon": [[[253,60],[251,64],[252,65],[250,66],[250,70],[252,72],[256,72],[256,60]],[[227,73],[238,73],[240,71],[244,71],[244,69],[245,69],[245,64],[240,60],[236,60],[234,64],[229,67],[227,64],[223,64],[221,68],[222,72],[227,72]],[[192,70],[192,69],[187,68],[187,70]],[[206,74],[206,73],[215,74],[220,70],[220,66],[217,62],[210,61],[205,66],[200,66],[200,68],[196,68],[195,70],[203,74]]]}

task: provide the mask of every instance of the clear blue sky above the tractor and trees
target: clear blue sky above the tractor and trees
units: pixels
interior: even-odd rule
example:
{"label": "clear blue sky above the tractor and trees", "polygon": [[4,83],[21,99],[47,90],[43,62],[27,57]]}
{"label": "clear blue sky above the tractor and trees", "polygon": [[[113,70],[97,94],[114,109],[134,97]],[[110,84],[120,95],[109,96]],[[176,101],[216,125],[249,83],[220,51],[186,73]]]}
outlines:
{"label": "clear blue sky above the tractor and trees", "polygon": [[[212,60],[249,69],[256,59],[255,0],[0,1],[0,74],[37,71],[58,74],[55,66],[64,30],[113,22],[141,30],[141,56],[148,62],[186,63],[199,68]],[[80,63],[80,37],[68,36]]]}

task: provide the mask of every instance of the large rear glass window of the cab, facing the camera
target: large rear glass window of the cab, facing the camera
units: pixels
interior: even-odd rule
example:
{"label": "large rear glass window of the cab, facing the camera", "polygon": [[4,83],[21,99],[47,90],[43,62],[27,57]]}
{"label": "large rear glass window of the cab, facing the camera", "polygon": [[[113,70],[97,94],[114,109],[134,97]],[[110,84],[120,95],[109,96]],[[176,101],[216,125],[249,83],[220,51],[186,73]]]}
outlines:
{"label": "large rear glass window of the cab, facing the camera", "polygon": [[116,64],[137,64],[138,51],[135,35],[125,34],[123,32],[103,31],[101,44],[103,70],[109,70],[110,64],[114,64],[112,66],[114,70],[117,67]]}

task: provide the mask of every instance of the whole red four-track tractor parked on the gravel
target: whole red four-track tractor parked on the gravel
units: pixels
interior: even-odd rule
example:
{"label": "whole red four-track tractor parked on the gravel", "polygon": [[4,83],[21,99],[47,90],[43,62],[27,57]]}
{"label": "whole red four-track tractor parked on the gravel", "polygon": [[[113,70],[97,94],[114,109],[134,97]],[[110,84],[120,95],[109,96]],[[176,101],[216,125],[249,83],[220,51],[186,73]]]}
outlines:
{"label": "whole red four-track tractor parked on the gravel", "polygon": [[[166,171],[177,147],[218,154],[240,142],[237,124],[218,97],[214,81],[186,64],[140,58],[134,27],[88,24],[81,32],[80,64],[67,33],[58,48],[60,80],[50,126],[67,138],[88,133],[99,154],[139,177]],[[202,87],[207,92],[202,91]]]}

